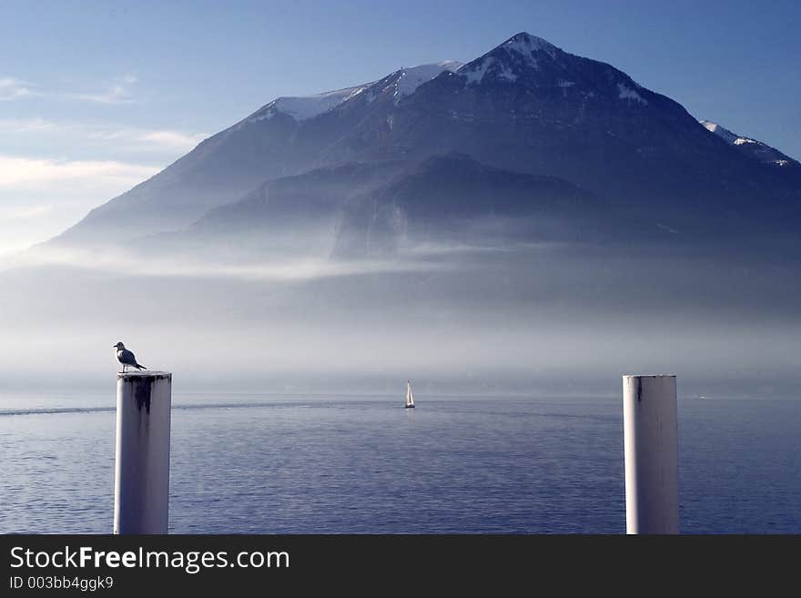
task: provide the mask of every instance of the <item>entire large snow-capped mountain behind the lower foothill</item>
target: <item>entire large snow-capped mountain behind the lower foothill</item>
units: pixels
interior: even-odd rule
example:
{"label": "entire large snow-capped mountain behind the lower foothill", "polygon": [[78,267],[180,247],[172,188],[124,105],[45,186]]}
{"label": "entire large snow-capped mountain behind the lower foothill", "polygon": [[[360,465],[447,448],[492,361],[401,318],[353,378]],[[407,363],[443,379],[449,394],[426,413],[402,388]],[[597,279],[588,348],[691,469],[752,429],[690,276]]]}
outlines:
{"label": "entire large snow-capped mountain behind the lower foothill", "polygon": [[[795,238],[801,171],[754,159],[744,146],[767,155],[764,145],[710,135],[683,106],[613,66],[521,33],[464,65],[401,68],[340,91],[279,97],[96,208],[55,243],[141,238],[197,220],[210,230],[212,220],[232,213],[215,208],[237,202],[239,218],[279,221],[283,210],[294,209],[290,202],[252,196],[269,189],[270,180],[353,164],[403,164],[411,172],[453,152],[605,198],[612,211],[602,220],[626,214],[690,240]],[[398,174],[380,169],[376,186]],[[449,194],[461,188],[441,187],[431,201],[441,210],[457,208]],[[348,195],[342,201],[355,201],[357,194]],[[309,198],[309,206],[325,201]],[[255,210],[249,215],[248,206]],[[352,232],[357,212],[348,212],[355,219],[340,231]]]}

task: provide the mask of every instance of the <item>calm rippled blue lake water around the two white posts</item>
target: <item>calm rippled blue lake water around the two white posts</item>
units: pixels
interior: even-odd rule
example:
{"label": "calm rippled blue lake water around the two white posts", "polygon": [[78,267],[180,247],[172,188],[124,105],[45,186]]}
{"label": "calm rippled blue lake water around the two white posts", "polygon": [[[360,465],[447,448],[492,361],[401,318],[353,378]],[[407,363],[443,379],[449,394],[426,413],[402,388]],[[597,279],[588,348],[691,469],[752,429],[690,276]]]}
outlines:
{"label": "calm rippled blue lake water around the two white posts", "polygon": [[[0,532],[112,529],[114,397],[0,396]],[[174,397],[170,532],[624,532],[620,399]],[[682,532],[801,532],[801,401],[679,400]]]}

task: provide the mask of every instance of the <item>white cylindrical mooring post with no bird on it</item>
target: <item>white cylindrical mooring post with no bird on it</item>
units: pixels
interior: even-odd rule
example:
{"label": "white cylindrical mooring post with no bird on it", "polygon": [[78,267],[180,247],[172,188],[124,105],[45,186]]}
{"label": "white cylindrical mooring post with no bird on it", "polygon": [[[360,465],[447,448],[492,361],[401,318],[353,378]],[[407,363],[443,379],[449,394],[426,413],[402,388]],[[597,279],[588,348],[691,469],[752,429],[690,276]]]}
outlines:
{"label": "white cylindrical mooring post with no bird on it", "polygon": [[624,376],[626,533],[678,533],[675,376]]}

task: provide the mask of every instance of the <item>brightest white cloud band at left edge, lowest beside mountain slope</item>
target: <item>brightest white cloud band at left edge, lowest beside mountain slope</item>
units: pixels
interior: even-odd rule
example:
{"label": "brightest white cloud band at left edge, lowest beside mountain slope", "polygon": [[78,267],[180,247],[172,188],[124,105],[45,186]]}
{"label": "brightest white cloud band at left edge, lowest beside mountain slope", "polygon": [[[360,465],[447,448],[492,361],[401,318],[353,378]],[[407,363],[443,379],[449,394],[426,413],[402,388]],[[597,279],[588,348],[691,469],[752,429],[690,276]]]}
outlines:
{"label": "brightest white cloud band at left edge, lowest beside mountain slope", "polygon": [[47,183],[93,178],[134,185],[157,170],[116,160],[52,160],[0,154],[0,189],[42,187]]}

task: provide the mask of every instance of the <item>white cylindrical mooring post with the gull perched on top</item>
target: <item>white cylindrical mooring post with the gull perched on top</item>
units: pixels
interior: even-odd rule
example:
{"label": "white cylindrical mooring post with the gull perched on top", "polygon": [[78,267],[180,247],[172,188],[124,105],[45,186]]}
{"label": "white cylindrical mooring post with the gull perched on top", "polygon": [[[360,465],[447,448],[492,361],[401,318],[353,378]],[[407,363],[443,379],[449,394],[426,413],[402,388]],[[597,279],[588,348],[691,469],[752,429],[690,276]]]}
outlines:
{"label": "white cylindrical mooring post with the gull perched on top", "polygon": [[172,374],[117,374],[114,532],[167,533]]}

